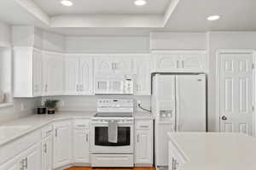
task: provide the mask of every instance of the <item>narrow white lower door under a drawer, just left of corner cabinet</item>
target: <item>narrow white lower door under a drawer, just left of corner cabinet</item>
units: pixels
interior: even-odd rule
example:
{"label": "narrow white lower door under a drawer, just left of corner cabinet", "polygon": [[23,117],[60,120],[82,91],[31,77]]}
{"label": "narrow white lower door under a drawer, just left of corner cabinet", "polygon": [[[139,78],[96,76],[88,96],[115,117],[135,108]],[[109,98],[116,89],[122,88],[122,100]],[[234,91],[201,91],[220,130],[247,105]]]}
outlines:
{"label": "narrow white lower door under a drawer, just left of corner cabinet", "polygon": [[42,141],[42,170],[52,169],[52,135]]}

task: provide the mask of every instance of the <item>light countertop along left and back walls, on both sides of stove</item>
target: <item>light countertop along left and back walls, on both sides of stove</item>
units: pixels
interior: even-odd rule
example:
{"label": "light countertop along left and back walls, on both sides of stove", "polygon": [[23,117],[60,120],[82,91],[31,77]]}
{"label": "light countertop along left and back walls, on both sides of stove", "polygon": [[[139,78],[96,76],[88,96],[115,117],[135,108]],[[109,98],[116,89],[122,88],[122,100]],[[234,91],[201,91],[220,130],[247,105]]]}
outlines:
{"label": "light countertop along left and back walls, on both sides of stove", "polygon": [[[54,115],[32,115],[26,116],[11,122],[5,122],[0,124],[0,146],[3,144],[7,144],[12,140],[18,139],[21,136],[25,135],[26,133],[31,133],[32,131],[44,127],[45,125],[61,120],[69,120],[74,118],[81,118],[81,119],[90,119],[92,116],[96,114],[96,111],[61,111],[56,112]],[[138,112],[134,115],[135,119],[143,119],[143,120],[153,120],[154,117],[147,113]],[[6,133],[4,131],[4,127],[25,127],[22,130],[15,131],[15,130],[8,130]],[[1,130],[3,130],[1,132]],[[1,133],[3,134],[1,138]]]}

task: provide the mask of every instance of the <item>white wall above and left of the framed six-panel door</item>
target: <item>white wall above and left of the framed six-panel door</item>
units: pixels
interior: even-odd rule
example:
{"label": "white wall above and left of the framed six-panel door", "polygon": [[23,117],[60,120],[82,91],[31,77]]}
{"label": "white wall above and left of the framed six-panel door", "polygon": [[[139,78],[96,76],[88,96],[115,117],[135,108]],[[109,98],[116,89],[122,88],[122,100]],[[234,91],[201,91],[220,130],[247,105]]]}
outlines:
{"label": "white wall above and left of the framed six-panel door", "polygon": [[218,49],[256,49],[256,32],[209,32],[208,103],[210,130],[216,129],[216,52]]}

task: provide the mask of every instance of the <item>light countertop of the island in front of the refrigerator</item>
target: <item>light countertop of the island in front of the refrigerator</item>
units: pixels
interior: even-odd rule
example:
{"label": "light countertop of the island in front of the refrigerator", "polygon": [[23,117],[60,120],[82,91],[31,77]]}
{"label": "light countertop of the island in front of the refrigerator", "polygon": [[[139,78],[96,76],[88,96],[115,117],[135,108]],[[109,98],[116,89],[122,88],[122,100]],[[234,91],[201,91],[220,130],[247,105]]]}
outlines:
{"label": "light countertop of the island in front of the refrigerator", "polygon": [[187,159],[180,170],[255,170],[256,138],[241,133],[168,133]]}

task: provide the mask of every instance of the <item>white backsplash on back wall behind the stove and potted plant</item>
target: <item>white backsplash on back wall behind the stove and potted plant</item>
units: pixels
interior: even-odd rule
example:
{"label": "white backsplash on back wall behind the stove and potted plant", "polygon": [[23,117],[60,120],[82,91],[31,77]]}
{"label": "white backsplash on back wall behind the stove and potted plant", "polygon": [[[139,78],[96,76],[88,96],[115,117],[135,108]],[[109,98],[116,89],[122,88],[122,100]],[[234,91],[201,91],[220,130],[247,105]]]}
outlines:
{"label": "white backsplash on back wall behind the stove and potted plant", "polygon": [[[127,96],[127,95],[117,95],[117,96],[58,96],[58,97],[44,97],[42,102],[44,103],[45,99],[59,99],[58,104],[59,111],[96,111],[96,102],[100,98],[110,98],[110,99],[135,99],[140,101],[144,108],[150,109],[151,99],[150,96]],[[137,104],[136,104],[137,105]],[[142,111],[142,110],[137,110]]]}

